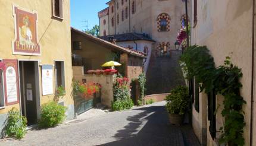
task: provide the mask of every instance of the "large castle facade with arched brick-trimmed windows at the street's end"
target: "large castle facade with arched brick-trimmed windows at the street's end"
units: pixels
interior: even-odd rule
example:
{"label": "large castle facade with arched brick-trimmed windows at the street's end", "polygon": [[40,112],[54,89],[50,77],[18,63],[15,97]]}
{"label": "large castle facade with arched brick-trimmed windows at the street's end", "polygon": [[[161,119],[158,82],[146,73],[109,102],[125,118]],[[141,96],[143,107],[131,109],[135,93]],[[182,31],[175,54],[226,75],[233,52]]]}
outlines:
{"label": "large castle facade with arched brick-trimmed windows at the street's end", "polygon": [[[188,3],[190,5],[190,2]],[[176,69],[179,65],[166,66],[161,64],[161,60],[166,58],[166,62],[176,62],[174,58],[180,53],[176,53],[174,43],[177,39],[177,33],[182,28],[182,21],[185,15],[185,3],[180,0],[112,0],[107,3],[108,8],[100,11],[99,26],[100,36],[118,36],[120,34],[144,34],[154,40],[151,45],[143,43],[139,46],[139,50],[144,50],[149,47],[148,62],[149,65],[145,68],[147,76],[154,74],[154,64],[161,66],[161,70],[165,68]],[[190,12],[190,11],[189,11]],[[108,22],[108,23],[105,23]],[[133,40],[132,43],[136,42]],[[129,47],[131,45],[127,40],[118,42],[119,45]],[[133,43],[134,44],[134,43]],[[151,48],[152,47],[152,48]],[[134,47],[135,48],[135,47]],[[152,50],[152,51],[151,51]],[[174,53],[173,53],[174,52]],[[179,71],[180,72],[180,71]],[[163,77],[168,77],[168,74],[162,74]],[[149,76],[148,76],[149,77]],[[166,93],[171,87],[166,82],[166,78],[156,77],[158,80],[148,78],[148,85],[162,84],[166,87],[160,90],[155,90],[156,87],[149,87],[150,94]],[[182,78],[180,75],[179,78]],[[174,81],[177,84],[183,84],[180,81]],[[176,85],[175,83],[175,85]],[[172,86],[172,85],[170,85]],[[174,86],[174,85],[173,85]]]}

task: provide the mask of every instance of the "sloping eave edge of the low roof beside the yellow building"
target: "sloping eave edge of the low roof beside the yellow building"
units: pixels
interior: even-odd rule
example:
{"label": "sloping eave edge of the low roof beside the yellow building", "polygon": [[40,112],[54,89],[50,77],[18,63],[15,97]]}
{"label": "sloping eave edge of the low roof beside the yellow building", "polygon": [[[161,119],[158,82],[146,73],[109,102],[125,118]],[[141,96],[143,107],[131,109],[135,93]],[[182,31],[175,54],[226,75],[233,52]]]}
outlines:
{"label": "sloping eave edge of the low roof beside the yellow building", "polygon": [[71,27],[71,31],[79,33],[82,36],[87,37],[88,39],[94,40],[97,43],[101,43],[102,45],[107,45],[108,47],[111,47],[111,48],[113,48],[117,51],[120,51],[120,52],[123,52],[123,53],[128,53],[128,54],[133,55],[133,56],[138,56],[140,58],[146,58],[146,54],[143,53],[143,52],[139,52],[139,51],[136,51],[136,50],[133,50],[133,49],[129,49],[129,48],[126,48],[126,47],[121,47],[121,46],[115,45],[113,43],[108,42],[107,40],[99,39],[98,37],[95,37],[95,36],[92,36],[90,34],[84,33],[83,31],[77,30],[76,28],[73,28],[73,27]]}

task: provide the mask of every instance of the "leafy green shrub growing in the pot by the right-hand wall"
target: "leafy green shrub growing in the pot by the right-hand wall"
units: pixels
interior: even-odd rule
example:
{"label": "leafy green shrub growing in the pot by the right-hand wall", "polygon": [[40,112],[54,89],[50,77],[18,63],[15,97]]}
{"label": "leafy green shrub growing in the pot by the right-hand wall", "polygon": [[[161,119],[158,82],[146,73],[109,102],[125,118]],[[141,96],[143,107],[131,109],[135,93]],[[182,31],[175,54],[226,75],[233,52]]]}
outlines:
{"label": "leafy green shrub growing in the pot by the right-hand wall", "polygon": [[185,86],[177,86],[166,97],[168,113],[183,115],[189,106],[189,91]]}

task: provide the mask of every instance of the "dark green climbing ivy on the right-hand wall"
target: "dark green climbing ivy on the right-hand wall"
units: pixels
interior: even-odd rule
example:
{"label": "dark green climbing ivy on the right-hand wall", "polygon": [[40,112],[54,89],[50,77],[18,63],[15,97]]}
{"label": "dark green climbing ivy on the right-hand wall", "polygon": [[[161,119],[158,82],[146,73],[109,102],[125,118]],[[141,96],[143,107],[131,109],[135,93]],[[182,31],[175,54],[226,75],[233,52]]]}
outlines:
{"label": "dark green climbing ivy on the right-hand wall", "polygon": [[243,127],[245,126],[242,105],[245,104],[240,94],[242,71],[227,57],[224,65],[215,68],[214,59],[206,46],[188,47],[180,58],[186,78],[195,77],[200,83],[201,92],[216,92],[224,97],[224,125],[220,128],[220,144],[244,145]]}

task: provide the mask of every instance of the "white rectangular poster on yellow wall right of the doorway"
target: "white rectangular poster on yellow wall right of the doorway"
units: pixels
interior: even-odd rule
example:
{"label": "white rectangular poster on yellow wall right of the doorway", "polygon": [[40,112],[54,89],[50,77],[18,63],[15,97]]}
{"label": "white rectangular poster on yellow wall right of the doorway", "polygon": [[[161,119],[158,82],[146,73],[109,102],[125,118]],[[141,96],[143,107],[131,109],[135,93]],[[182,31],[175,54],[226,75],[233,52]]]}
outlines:
{"label": "white rectangular poster on yellow wall right of the doorway", "polygon": [[42,65],[42,92],[43,96],[54,93],[52,65]]}

